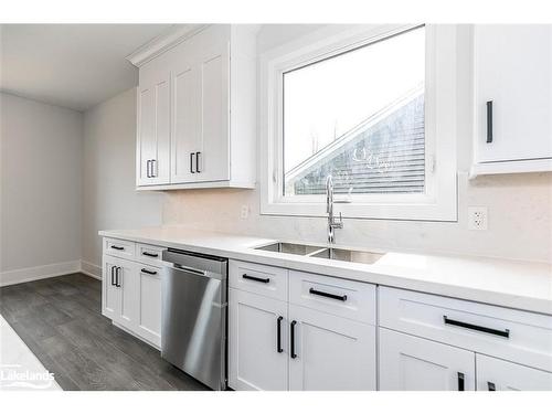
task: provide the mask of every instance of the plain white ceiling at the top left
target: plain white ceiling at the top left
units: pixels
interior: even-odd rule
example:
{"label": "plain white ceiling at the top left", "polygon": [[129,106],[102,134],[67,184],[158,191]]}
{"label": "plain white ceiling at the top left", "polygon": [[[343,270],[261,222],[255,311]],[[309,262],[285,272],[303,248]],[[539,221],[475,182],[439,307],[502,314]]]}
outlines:
{"label": "plain white ceiling at the top left", "polygon": [[2,24],[0,89],[76,110],[138,84],[126,59],[170,24]]}

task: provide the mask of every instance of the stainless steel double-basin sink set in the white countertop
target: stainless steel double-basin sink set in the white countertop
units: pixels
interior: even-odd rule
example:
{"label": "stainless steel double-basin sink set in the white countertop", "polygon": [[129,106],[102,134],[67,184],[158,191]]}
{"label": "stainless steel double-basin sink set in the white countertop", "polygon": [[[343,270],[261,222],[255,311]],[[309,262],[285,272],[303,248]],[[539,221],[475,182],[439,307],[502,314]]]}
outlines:
{"label": "stainless steel double-basin sink set in the white countertop", "polygon": [[305,257],[329,258],[331,261],[363,263],[371,265],[383,257],[383,253],[355,251],[338,247],[320,247],[308,244],[276,242],[255,247],[258,251],[296,254]]}

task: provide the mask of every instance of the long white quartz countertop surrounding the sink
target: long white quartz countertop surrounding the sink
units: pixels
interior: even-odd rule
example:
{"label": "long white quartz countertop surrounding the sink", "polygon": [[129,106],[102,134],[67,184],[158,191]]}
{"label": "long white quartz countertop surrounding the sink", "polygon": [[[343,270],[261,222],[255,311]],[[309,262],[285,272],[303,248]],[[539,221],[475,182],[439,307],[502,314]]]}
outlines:
{"label": "long white quartz countertop surrounding the sink", "polygon": [[549,263],[389,252],[368,265],[257,251],[254,247],[276,240],[184,226],[100,231],[99,235],[552,315]]}

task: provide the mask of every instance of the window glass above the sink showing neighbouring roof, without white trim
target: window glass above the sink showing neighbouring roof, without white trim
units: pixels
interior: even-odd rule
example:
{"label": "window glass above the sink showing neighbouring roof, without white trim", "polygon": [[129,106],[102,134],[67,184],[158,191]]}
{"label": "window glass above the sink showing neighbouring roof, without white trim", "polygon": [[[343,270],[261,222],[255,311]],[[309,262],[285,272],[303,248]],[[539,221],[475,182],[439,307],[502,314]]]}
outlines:
{"label": "window glass above the sink showing neighbouring roof, without white trim", "polygon": [[283,75],[284,195],[425,190],[423,26]]}

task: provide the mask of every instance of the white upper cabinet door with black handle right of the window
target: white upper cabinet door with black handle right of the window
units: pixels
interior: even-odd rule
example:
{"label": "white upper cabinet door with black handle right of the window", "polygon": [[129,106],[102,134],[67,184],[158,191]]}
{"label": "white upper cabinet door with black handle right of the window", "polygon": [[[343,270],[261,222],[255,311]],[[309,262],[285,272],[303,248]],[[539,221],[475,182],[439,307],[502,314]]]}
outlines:
{"label": "white upper cabinet door with black handle right of the window", "polygon": [[478,24],[474,35],[476,161],[552,157],[552,26]]}

